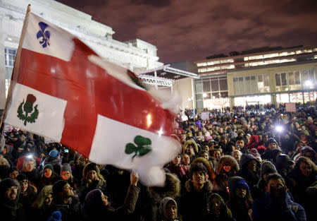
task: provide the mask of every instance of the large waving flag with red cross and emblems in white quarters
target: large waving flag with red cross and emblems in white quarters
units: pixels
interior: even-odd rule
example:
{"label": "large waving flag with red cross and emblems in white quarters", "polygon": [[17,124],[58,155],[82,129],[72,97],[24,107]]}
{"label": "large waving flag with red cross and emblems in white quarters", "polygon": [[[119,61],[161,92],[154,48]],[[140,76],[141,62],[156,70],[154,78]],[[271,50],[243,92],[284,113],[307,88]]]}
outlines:
{"label": "large waving flag with red cross and emblems in white quarters", "polygon": [[175,115],[74,35],[28,12],[20,37],[4,122],[66,145],[101,165],[136,169],[162,186],[161,166],[180,144]]}

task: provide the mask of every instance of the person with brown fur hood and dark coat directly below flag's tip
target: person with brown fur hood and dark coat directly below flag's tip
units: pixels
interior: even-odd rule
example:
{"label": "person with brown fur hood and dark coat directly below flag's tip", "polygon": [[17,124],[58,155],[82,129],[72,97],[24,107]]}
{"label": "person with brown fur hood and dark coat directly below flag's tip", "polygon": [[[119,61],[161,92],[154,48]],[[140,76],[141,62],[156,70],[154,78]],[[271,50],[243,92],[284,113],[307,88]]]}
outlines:
{"label": "person with brown fur hood and dark coat directly below flag's tip", "polygon": [[163,198],[170,197],[175,201],[180,197],[180,179],[175,174],[166,173],[166,181],[163,187],[147,187],[147,195],[142,198],[142,220],[159,220],[159,207]]}

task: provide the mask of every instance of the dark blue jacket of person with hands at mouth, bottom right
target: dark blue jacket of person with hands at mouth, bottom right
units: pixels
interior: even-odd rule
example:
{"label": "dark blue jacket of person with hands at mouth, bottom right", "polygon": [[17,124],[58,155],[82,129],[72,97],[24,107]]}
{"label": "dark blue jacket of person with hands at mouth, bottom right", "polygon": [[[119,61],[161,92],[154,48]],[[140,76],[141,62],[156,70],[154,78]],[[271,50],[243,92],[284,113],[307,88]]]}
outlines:
{"label": "dark blue jacket of person with hands at mouth, bottom right", "polygon": [[254,201],[252,211],[253,221],[306,221],[304,208],[294,203],[288,194],[285,199],[276,201],[266,192],[263,198]]}

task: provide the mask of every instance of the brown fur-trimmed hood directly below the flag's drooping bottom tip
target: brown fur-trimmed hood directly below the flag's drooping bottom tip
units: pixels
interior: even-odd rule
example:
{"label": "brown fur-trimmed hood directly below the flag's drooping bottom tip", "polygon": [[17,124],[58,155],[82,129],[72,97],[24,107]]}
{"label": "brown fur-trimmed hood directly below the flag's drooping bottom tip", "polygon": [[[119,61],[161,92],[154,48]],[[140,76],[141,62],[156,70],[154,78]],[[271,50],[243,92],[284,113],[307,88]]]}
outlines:
{"label": "brown fur-trimmed hood directly below the flag's drooping bottom tip", "polygon": [[166,173],[165,186],[149,186],[147,191],[154,200],[161,201],[168,196],[175,199],[180,196],[180,179],[175,174]]}

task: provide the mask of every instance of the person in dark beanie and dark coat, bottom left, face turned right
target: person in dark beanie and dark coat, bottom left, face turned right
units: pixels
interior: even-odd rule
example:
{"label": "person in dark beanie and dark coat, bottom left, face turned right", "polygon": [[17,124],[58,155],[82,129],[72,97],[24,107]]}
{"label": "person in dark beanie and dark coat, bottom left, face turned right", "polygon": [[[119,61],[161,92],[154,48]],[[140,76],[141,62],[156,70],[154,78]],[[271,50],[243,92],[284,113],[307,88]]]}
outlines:
{"label": "person in dark beanie and dark coat, bottom left, face turned right", "polygon": [[57,210],[61,211],[63,221],[77,221],[82,216],[79,199],[74,196],[73,188],[63,179],[53,185],[53,201],[45,211],[43,220],[48,220]]}

